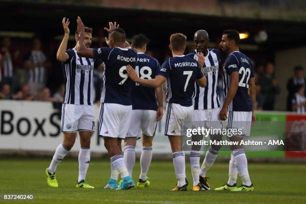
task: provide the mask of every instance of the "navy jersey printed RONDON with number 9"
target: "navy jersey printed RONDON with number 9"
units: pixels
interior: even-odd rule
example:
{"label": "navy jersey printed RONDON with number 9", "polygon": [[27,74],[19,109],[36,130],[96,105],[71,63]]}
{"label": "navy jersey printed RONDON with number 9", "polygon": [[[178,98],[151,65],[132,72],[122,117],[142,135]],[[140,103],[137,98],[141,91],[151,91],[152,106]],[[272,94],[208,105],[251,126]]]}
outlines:
{"label": "navy jersey printed RONDON with number 9", "polygon": [[101,102],[131,105],[130,86],[132,80],[126,72],[126,65],[135,68],[137,52],[120,47],[93,49],[96,59],[104,61]]}

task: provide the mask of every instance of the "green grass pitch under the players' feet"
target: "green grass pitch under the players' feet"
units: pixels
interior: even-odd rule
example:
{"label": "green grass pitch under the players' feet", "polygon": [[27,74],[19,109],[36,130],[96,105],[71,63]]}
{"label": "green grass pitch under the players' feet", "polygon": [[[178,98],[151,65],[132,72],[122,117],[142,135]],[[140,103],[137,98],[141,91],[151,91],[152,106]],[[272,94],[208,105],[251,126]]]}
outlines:
{"label": "green grass pitch under the players' feet", "polygon": [[[76,188],[78,175],[77,158],[66,158],[57,167],[58,188],[47,186],[44,174],[50,158],[0,159],[0,204],[11,203],[3,200],[3,194],[33,194],[34,200],[26,203],[306,203],[305,164],[249,163],[249,173],[255,190],[253,192],[216,192],[191,190],[192,176],[186,161],[189,180],[188,191],[169,191],[175,185],[172,160],[153,159],[148,172],[151,186],[130,190],[103,189],[109,178],[108,160],[92,159],[87,172],[87,181],[95,189]],[[139,160],[136,161],[133,179],[138,180]],[[216,162],[208,171],[211,188],[219,187],[227,181],[228,163]],[[240,184],[241,181],[238,181]]]}

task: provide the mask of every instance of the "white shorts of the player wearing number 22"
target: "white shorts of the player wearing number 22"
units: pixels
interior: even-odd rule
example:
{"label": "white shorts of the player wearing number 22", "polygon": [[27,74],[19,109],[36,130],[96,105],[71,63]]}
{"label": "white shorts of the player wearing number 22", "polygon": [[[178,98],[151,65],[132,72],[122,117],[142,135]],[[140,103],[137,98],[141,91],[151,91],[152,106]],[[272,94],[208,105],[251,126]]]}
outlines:
{"label": "white shorts of the player wearing number 22", "polygon": [[251,111],[228,111],[226,127],[227,129],[240,129],[242,133],[239,133],[237,136],[249,136],[251,120]]}

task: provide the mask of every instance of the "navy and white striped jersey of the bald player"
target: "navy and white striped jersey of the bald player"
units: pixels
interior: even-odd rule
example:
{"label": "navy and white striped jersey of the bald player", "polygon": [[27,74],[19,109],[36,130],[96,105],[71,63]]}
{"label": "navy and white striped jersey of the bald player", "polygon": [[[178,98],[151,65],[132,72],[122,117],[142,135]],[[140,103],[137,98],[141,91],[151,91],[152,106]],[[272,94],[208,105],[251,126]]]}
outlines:
{"label": "navy and white striped jersey of the bald player", "polygon": [[[195,60],[198,58],[196,49],[187,55],[193,57]],[[203,66],[203,72],[206,76],[206,87],[202,88],[196,82],[194,83],[192,102],[195,110],[220,107],[218,95],[218,70],[220,61],[220,51],[209,48]]]}

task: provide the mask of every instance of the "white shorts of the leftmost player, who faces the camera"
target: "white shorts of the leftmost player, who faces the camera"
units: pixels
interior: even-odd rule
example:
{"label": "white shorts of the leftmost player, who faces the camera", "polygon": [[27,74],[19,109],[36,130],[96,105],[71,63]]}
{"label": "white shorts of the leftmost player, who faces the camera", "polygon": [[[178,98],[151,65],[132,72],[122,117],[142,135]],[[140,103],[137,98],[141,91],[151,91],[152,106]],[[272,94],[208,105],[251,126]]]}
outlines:
{"label": "white shorts of the leftmost player, who faces the camera", "polygon": [[61,107],[61,131],[94,131],[94,111],[92,105],[63,103]]}

